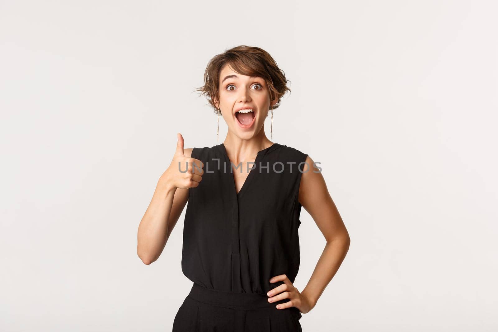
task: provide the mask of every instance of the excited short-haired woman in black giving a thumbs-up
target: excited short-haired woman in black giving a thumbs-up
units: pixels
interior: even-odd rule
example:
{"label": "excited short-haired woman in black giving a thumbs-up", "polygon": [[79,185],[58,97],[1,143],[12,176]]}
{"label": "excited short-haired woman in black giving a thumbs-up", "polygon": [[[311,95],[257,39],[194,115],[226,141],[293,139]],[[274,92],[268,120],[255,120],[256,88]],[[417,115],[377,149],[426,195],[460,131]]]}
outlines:
{"label": "excited short-haired woman in black giving a thumbs-up", "polygon": [[[182,271],[192,289],[173,332],[302,331],[308,313],[349,249],[348,231],[313,160],[271,142],[264,121],[289,90],[273,58],[241,45],[211,59],[198,89],[228,125],[223,143],[184,149],[160,176],[138,227],[145,264],[161,254],[185,204]],[[270,132],[272,128],[270,127]],[[249,166],[250,164],[250,166]],[[326,239],[306,287],[300,263],[301,207]]]}

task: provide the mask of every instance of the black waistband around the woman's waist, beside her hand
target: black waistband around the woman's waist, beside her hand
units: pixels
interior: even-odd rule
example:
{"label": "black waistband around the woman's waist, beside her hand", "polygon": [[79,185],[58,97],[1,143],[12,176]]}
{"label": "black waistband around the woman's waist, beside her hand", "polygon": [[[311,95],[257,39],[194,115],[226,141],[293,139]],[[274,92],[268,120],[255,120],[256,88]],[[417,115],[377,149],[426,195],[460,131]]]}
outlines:
{"label": "black waistband around the woman's waist, beside her hand", "polygon": [[269,297],[266,294],[225,292],[206,288],[196,283],[192,285],[192,289],[187,297],[213,306],[234,309],[273,308],[275,310],[279,310],[276,308],[277,304],[289,301],[289,299],[283,299],[275,302],[268,302]]}

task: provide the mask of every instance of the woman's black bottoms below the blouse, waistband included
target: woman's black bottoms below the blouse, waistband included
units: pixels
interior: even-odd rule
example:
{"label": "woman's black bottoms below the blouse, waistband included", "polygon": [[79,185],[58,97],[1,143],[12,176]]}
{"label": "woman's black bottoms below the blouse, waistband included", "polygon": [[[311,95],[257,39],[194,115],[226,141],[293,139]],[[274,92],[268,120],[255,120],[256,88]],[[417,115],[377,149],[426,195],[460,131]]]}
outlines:
{"label": "woman's black bottoms below the blouse, waistband included", "polygon": [[296,307],[268,302],[268,296],[232,293],[193,284],[173,322],[173,332],[302,332]]}

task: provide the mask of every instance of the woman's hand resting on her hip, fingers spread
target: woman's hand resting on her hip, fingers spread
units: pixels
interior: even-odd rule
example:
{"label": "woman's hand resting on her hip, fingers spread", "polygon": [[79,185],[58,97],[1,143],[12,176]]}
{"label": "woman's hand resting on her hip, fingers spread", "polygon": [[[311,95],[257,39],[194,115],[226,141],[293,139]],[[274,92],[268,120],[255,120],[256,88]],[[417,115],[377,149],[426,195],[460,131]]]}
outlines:
{"label": "woman's hand resting on her hip, fingers spread", "polygon": [[277,305],[277,309],[296,307],[303,314],[306,314],[313,309],[314,304],[312,301],[310,301],[310,299],[308,299],[304,294],[301,294],[285,274],[281,274],[270,279],[270,283],[275,283],[277,281],[283,281],[284,283],[273,288],[266,294],[269,296],[268,302],[290,299],[288,302]]}

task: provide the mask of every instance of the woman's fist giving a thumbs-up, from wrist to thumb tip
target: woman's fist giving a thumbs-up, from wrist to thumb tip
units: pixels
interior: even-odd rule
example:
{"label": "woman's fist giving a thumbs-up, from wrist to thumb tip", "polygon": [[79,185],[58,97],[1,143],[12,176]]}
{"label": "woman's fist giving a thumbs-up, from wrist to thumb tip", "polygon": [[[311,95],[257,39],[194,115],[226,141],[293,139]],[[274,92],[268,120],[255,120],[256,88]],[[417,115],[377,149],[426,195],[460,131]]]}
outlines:
{"label": "woman's fist giving a thumbs-up, from wrist to thumb tip", "polygon": [[186,157],[183,152],[183,136],[177,134],[178,142],[176,143],[176,151],[169,165],[168,169],[164,172],[164,176],[170,182],[170,185],[180,188],[188,189],[199,186],[204,174],[204,163],[199,159]]}

